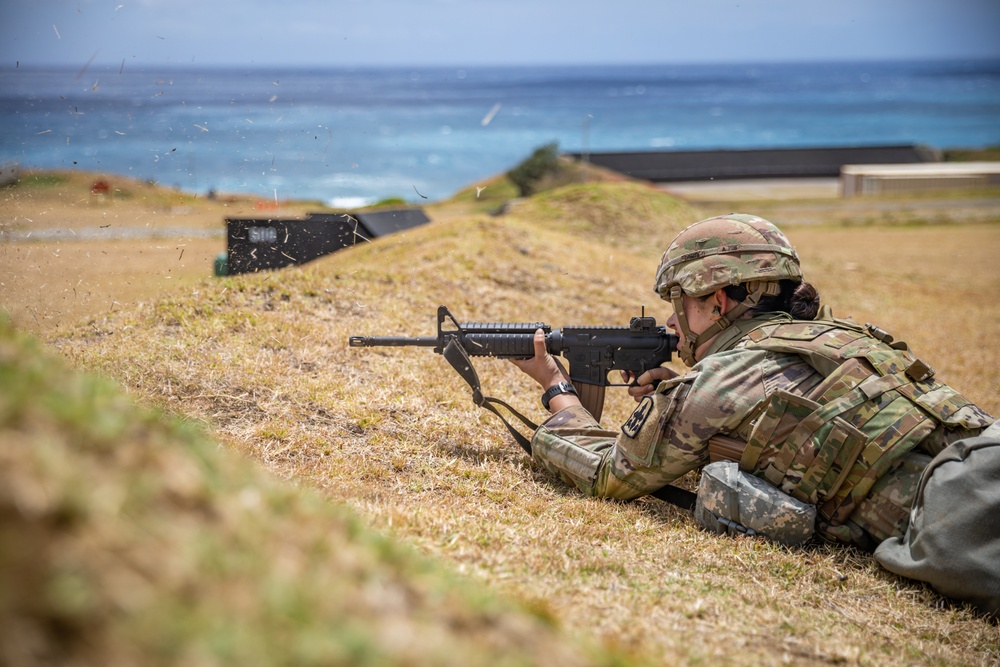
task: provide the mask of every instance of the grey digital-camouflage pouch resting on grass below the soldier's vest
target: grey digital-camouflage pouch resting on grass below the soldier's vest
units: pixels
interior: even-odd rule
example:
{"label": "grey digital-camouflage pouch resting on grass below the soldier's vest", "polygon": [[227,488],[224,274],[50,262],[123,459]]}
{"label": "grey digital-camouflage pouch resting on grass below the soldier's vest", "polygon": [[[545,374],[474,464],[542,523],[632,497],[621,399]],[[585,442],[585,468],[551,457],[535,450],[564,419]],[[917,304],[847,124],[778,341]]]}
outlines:
{"label": "grey digital-camouflage pouch resting on grass below the soldier's vest", "polygon": [[816,532],[815,505],[743,472],[735,461],[709,463],[702,470],[694,519],[711,532],[763,535],[789,546]]}

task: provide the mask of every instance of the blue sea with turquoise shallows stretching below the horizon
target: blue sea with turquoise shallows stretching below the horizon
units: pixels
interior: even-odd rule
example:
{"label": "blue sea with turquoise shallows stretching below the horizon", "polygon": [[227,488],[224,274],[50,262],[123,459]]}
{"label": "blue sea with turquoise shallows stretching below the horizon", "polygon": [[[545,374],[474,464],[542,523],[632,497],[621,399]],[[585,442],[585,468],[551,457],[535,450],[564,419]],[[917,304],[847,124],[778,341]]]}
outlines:
{"label": "blue sea with turquoise shallows stretching below the horizon", "polygon": [[1000,145],[1000,60],[0,69],[0,162],[357,206],[565,152]]}

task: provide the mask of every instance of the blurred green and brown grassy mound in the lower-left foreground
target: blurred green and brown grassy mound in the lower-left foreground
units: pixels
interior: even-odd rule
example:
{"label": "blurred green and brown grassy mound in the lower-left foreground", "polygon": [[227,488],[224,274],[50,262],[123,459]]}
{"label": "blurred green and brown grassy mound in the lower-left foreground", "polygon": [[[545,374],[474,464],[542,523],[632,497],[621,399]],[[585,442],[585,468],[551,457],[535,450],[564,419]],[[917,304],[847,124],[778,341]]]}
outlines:
{"label": "blurred green and brown grassy mound in the lower-left foreground", "polygon": [[0,320],[0,661],[616,665]]}

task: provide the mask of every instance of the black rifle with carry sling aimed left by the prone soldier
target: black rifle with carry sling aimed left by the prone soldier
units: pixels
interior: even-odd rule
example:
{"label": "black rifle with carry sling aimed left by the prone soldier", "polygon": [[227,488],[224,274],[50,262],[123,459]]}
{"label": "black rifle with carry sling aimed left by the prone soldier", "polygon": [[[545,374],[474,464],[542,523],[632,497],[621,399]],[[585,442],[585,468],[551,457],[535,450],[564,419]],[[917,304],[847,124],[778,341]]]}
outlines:
{"label": "black rifle with carry sling aimed left by the prone soldier", "polygon": [[537,426],[503,401],[483,396],[479,377],[469,357],[527,359],[535,354],[535,331],[545,332],[549,354],[569,362],[569,376],[580,401],[594,419],[600,421],[606,387],[628,386],[608,379],[611,371],[626,371],[637,378],[645,371],[670,361],[677,351],[677,336],[657,326],[652,317],[633,317],[627,327],[563,327],[552,329],[542,322],[459,322],[445,306],[438,308],[437,336],[351,336],[351,347],[418,346],[433,347],[472,387],[473,401],[503,420],[507,429],[531,454],[531,444],[493,407],[502,405],[532,430]]}

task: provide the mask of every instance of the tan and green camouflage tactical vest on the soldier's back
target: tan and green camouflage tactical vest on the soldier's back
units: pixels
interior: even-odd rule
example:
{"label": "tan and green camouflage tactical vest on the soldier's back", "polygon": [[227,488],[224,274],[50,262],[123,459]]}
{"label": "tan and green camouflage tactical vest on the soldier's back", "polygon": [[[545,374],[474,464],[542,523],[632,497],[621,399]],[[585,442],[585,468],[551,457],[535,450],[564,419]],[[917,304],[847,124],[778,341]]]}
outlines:
{"label": "tan and green camouflage tactical vest on the soldier's back", "polygon": [[772,324],[748,338],[748,348],[799,354],[827,375],[809,396],[769,398],[741,464],[819,505],[828,537],[839,539],[833,529],[907,452],[932,453],[956,430],[977,434],[994,421],[936,380],[905,343],[892,347],[854,322]]}

